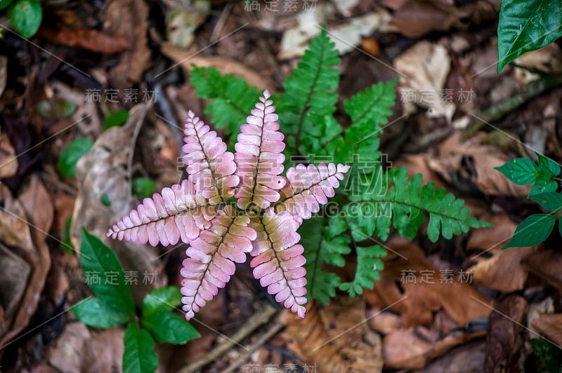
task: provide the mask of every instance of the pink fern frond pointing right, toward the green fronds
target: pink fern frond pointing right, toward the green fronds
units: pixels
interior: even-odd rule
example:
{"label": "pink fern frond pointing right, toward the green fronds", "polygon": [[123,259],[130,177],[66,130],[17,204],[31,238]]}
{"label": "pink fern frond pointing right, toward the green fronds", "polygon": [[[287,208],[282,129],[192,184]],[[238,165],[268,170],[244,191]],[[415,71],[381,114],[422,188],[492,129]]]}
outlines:
{"label": "pink fern frond pointing right, toward the green fronds", "polygon": [[334,163],[320,163],[318,168],[299,164],[287,170],[287,184],[281,189],[282,201],[275,204],[275,211],[289,211],[294,217],[310,219],[312,212],[318,212],[328,198],[334,196],[334,189],[349,166]]}

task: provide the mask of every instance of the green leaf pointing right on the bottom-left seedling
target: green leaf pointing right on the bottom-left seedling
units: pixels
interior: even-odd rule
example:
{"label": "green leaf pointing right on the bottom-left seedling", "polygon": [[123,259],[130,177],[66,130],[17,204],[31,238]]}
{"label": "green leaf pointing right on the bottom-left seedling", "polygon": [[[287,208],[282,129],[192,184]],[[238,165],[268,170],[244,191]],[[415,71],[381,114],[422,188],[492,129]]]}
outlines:
{"label": "green leaf pointing right on the bottom-left seedling", "polygon": [[185,318],[171,312],[157,311],[143,317],[143,327],[149,330],[159,344],[185,344],[201,337]]}

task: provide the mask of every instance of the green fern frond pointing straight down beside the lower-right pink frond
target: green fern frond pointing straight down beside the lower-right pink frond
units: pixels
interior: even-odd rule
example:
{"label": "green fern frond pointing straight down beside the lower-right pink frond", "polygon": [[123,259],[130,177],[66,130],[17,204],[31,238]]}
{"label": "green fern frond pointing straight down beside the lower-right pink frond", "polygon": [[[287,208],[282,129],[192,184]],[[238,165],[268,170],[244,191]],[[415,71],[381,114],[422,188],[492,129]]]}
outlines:
{"label": "green fern frond pointing straight down beside the lower-right pink frond", "polygon": [[329,304],[330,297],[336,295],[341,279],[336,273],[326,271],[325,265],[343,267],[344,255],[351,252],[351,239],[346,234],[347,224],[340,217],[332,217],[325,226],[326,219],[313,217],[305,220],[299,229],[301,245],[306,257],[307,296]]}

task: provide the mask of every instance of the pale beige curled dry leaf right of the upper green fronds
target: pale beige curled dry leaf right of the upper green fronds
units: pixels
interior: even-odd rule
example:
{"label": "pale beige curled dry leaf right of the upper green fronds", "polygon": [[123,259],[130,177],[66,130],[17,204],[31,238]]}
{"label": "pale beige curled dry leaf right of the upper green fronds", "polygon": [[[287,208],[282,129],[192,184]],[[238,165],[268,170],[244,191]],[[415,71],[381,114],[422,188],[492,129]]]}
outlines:
{"label": "pale beige curled dry leaf right of the upper green fronds", "polygon": [[408,98],[402,100],[404,111],[415,112],[415,102],[427,109],[430,118],[444,116],[450,122],[455,114],[455,104],[440,97],[450,66],[451,59],[445,47],[429,41],[420,41],[398,56],[394,67],[403,75],[400,77],[400,95]]}

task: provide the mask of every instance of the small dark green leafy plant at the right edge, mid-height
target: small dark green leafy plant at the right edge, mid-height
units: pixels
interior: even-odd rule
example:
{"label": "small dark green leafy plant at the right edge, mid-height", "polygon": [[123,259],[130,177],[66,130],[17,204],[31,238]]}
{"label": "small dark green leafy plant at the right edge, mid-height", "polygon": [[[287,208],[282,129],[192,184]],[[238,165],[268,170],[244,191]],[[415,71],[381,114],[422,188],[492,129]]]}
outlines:
{"label": "small dark green leafy plant at the right edge, mid-height", "polygon": [[[526,217],[502,249],[542,243],[550,236],[556,219],[562,215],[562,194],[557,192],[558,183],[562,181],[559,177],[560,165],[541,154],[537,154],[537,158],[538,163],[527,158],[515,158],[496,168],[515,184],[532,184],[528,197],[549,212]],[[562,221],[558,222],[558,231],[562,235]]]}

